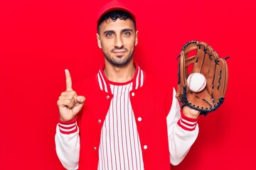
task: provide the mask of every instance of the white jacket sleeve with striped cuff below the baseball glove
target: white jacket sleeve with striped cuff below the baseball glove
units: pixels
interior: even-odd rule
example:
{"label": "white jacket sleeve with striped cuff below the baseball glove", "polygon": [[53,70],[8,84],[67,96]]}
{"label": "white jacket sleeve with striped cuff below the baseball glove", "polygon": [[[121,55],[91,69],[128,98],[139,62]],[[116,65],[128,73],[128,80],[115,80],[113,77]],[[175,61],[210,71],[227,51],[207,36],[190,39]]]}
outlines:
{"label": "white jacket sleeve with striped cuff below the baseball glove", "polygon": [[168,138],[170,162],[173,165],[181,163],[188,153],[189,149],[196,141],[198,136],[197,120],[187,118],[181,113],[181,107],[178,103],[176,91],[174,89],[173,102],[171,110],[167,116]]}

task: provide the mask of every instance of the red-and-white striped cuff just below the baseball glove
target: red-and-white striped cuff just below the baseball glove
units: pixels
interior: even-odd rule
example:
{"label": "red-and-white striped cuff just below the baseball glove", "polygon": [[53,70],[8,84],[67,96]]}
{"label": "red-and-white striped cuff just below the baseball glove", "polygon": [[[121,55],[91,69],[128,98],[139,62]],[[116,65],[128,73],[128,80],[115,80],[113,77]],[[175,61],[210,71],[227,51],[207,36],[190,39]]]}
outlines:
{"label": "red-and-white striped cuff just below the baseball glove", "polygon": [[198,118],[188,118],[181,111],[181,118],[178,120],[178,125],[183,128],[183,130],[193,131],[196,129]]}

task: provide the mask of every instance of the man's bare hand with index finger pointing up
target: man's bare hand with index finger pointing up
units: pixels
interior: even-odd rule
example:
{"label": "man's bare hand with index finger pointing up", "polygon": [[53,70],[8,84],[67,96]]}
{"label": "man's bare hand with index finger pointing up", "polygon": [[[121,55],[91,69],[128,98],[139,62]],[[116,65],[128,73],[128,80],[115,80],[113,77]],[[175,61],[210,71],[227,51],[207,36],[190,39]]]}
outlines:
{"label": "man's bare hand with index finger pointing up", "polygon": [[70,121],[79,113],[85,103],[84,96],[78,96],[72,89],[72,80],[70,72],[65,69],[66,91],[64,91],[58,99],[58,108],[60,111],[60,120]]}

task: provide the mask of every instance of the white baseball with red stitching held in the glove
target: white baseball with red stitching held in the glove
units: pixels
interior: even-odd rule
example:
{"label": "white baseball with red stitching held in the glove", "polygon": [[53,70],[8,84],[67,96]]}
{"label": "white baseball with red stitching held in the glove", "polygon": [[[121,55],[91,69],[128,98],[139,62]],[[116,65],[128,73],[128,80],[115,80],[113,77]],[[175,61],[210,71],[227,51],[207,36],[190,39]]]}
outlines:
{"label": "white baseball with red stitching held in the glove", "polygon": [[192,73],[187,79],[188,88],[193,92],[200,92],[206,87],[206,77],[200,73]]}

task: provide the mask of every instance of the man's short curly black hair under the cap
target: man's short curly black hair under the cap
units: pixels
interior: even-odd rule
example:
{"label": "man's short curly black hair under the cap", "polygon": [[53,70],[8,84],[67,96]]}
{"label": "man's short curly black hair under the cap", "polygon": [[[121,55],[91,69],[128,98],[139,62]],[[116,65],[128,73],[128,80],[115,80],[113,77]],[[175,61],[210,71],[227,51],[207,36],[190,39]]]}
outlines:
{"label": "man's short curly black hair under the cap", "polygon": [[133,23],[134,23],[134,27],[136,30],[136,22],[134,21],[134,19],[132,18],[132,16],[125,12],[125,11],[110,11],[108,13],[105,13],[99,20],[99,23],[97,24],[97,32],[99,33],[100,30],[100,24],[103,21],[106,21],[108,18],[111,18],[112,21],[117,21],[117,19],[121,19],[121,20],[127,20],[127,18],[130,18]]}

